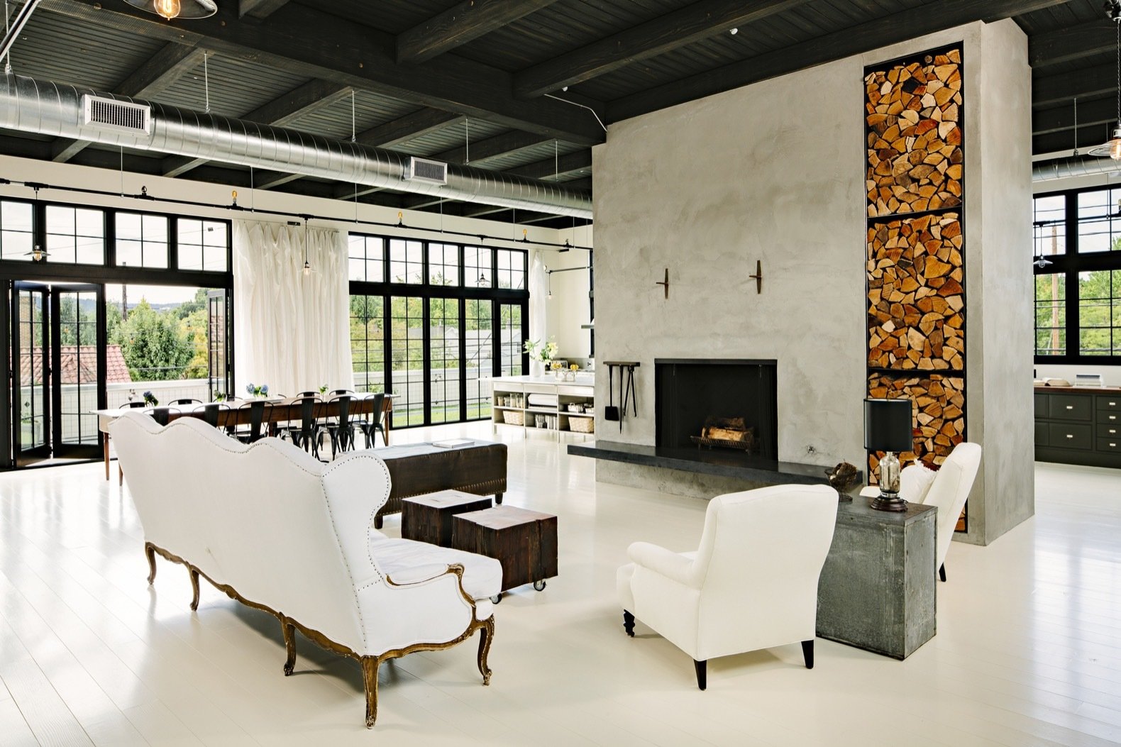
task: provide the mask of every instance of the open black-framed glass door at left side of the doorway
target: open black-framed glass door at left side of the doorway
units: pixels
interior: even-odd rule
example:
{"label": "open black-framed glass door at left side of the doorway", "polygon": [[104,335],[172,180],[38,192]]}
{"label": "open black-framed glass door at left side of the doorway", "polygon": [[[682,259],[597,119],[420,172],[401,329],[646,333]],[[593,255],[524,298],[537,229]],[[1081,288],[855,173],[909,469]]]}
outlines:
{"label": "open black-framed glass door at left side of the doorway", "polygon": [[16,467],[96,458],[105,400],[100,285],[15,283],[11,293],[11,444]]}

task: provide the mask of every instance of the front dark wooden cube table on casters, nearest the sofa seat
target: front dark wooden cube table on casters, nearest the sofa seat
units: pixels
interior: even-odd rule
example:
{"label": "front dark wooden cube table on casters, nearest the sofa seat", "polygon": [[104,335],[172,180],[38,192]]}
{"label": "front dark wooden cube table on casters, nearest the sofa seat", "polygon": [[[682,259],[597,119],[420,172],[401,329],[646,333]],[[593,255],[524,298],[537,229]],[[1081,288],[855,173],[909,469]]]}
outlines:
{"label": "front dark wooden cube table on casters, nearest the sofa seat", "polygon": [[[452,546],[502,564],[502,591],[557,574],[557,517],[516,506],[494,506],[452,517]],[[502,594],[491,601],[501,601]]]}

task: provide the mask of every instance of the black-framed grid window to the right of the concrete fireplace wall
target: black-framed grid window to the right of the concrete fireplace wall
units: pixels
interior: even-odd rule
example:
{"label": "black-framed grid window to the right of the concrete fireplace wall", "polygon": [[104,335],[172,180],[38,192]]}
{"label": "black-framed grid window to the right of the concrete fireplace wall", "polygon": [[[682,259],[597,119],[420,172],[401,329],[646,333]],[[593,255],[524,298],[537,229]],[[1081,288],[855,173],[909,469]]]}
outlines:
{"label": "black-framed grid window to the right of the concrete fireplace wall", "polygon": [[[1104,250],[1083,252],[1080,247],[1078,236],[1078,195],[1093,192],[1109,192],[1111,186],[1091,186],[1077,190],[1056,190],[1051,192],[1040,192],[1032,195],[1035,200],[1040,197],[1063,196],[1065,199],[1066,212],[1064,215],[1064,231],[1066,251],[1058,255],[1045,255],[1049,265],[1039,267],[1032,266],[1032,288],[1031,288],[1031,320],[1032,320],[1032,354],[1037,366],[1048,365],[1077,365],[1077,366],[1121,366],[1121,354],[1094,356],[1082,352],[1082,328],[1078,313],[1078,275],[1081,273],[1093,273],[1097,270],[1121,271],[1121,250]],[[1034,211],[1032,211],[1034,212]],[[1032,224],[1031,242],[1035,251],[1037,224]],[[1121,234],[1119,234],[1121,238]],[[1038,259],[1039,255],[1032,253],[1032,259]],[[1064,282],[1064,298],[1062,301],[1065,311],[1065,323],[1063,329],[1066,333],[1066,352],[1060,356],[1036,354],[1036,297],[1035,283],[1040,275],[1060,275]],[[1119,298],[1121,301],[1121,298]],[[1114,328],[1118,329],[1118,328]]]}

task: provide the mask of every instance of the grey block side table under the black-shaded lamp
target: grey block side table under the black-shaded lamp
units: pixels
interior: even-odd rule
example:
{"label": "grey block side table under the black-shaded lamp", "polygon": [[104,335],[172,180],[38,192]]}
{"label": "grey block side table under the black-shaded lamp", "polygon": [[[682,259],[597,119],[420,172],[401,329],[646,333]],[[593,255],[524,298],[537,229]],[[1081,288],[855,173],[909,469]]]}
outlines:
{"label": "grey block side table under the black-shaded lamp", "polygon": [[817,635],[907,658],[935,633],[935,506],[837,508],[833,545],[817,585]]}

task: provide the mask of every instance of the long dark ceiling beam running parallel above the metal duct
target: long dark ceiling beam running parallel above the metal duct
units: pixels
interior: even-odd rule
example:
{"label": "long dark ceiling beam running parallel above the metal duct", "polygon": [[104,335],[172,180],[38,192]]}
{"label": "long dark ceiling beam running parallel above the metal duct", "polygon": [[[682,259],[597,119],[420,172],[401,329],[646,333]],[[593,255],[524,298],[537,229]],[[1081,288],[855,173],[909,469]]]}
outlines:
{"label": "long dark ceiling beam running parallel above the metal duct", "polygon": [[234,59],[351,85],[419,107],[456,111],[510,129],[538,132],[580,145],[605,139],[587,112],[559,101],[520,101],[510,73],[456,55],[441,55],[423,66],[398,65],[396,39],[302,2],[289,2],[267,21],[238,19],[232,3],[219,3],[210,18],[170,22],[126,3],[101,0],[43,0],[40,9],[92,27],[194,44]]}

